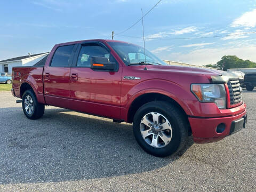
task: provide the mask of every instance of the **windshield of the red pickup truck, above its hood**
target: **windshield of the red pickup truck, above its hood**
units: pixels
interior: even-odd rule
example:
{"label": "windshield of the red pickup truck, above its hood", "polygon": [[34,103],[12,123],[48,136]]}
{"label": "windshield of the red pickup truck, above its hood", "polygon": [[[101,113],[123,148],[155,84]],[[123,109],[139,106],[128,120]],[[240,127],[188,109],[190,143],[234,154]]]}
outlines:
{"label": "windshield of the red pickup truck, above its hood", "polygon": [[[133,63],[143,64],[145,62],[144,49],[141,46],[121,42],[108,42],[108,44],[115,50],[119,57],[124,61],[125,65]],[[157,58],[154,54],[146,50],[146,63],[152,65],[167,65],[164,61]]]}

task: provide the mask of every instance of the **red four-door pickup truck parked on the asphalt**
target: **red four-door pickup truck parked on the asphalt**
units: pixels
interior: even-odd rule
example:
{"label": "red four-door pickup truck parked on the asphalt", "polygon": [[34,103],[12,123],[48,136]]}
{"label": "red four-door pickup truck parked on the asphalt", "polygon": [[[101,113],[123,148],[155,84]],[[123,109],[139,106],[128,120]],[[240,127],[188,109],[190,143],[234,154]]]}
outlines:
{"label": "red four-door pickup truck parked on the asphalt", "polygon": [[50,105],[133,123],[135,139],[155,156],[179,151],[191,134],[215,142],[246,124],[238,77],[169,66],[131,43],[57,44],[39,65],[12,70],[12,94],[29,119]]}

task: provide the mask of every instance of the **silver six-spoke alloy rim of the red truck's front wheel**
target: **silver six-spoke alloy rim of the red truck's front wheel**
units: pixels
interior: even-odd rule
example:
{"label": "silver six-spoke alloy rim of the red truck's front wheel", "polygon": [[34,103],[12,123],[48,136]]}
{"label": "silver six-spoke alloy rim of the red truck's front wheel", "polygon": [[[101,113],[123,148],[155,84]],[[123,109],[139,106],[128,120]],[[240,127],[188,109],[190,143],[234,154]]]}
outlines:
{"label": "silver six-spoke alloy rim of the red truck's front wheel", "polygon": [[141,119],[140,133],[148,145],[161,148],[171,141],[172,126],[165,116],[151,112]]}

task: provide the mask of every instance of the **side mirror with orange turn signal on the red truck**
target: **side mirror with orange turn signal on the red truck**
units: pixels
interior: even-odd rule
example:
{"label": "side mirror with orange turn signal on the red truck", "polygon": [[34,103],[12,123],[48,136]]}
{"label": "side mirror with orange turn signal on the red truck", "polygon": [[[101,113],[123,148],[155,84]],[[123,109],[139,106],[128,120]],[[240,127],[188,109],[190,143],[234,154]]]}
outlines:
{"label": "side mirror with orange turn signal on the red truck", "polygon": [[92,57],[91,58],[91,69],[100,70],[115,70],[116,63],[110,62],[106,57]]}

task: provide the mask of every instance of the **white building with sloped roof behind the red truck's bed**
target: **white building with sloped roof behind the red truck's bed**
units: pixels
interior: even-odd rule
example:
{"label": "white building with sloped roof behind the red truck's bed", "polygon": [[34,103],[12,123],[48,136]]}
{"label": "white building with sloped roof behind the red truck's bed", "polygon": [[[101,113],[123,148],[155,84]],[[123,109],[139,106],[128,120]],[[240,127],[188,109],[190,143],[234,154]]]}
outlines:
{"label": "white building with sloped roof behind the red truck's bed", "polygon": [[28,54],[0,61],[0,72],[12,73],[12,67],[33,66],[43,59],[48,53]]}

